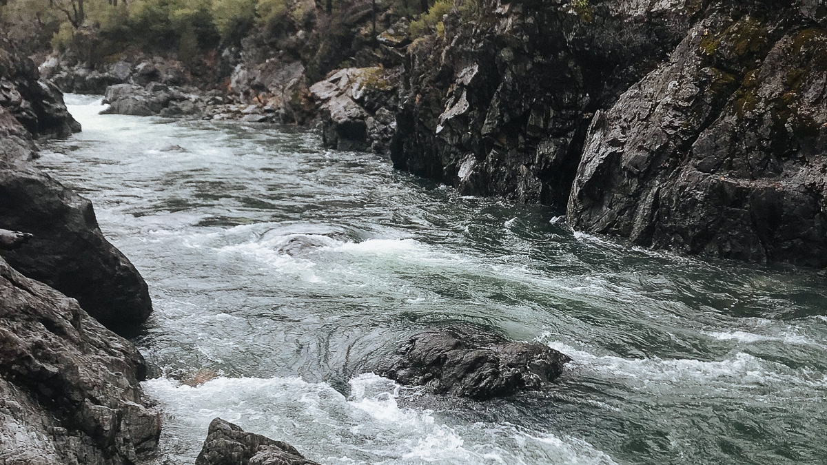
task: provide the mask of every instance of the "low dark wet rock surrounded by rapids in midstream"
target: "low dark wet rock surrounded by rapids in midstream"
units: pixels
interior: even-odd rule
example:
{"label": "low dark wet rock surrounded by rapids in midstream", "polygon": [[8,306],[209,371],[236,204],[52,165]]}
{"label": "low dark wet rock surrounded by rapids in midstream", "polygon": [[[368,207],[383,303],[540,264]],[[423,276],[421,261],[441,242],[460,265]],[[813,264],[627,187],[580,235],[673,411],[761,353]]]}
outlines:
{"label": "low dark wet rock surrounded by rapids in midstream", "polygon": [[380,375],[437,394],[486,400],[536,391],[562,373],[571,358],[538,343],[517,343],[471,328],[418,333]]}

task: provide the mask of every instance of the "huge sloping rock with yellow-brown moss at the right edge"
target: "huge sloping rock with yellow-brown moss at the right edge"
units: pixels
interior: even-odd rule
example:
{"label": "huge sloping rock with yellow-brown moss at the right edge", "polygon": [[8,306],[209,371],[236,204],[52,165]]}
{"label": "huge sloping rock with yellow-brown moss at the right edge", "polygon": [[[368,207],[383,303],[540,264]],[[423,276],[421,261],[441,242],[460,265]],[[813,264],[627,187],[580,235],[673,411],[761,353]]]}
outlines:
{"label": "huge sloping rock with yellow-brown moss at the right edge", "polygon": [[827,30],[729,2],[600,112],[569,200],[643,246],[827,266]]}

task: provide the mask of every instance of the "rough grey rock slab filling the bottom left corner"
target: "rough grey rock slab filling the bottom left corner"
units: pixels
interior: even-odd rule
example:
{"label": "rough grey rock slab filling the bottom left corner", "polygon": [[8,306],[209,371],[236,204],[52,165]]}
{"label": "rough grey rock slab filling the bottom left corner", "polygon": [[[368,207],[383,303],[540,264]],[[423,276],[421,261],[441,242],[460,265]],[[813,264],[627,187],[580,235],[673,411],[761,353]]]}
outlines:
{"label": "rough grey rock slab filling the bottom left corner", "polygon": [[160,435],[145,375],[130,343],[0,258],[0,463],[136,463]]}

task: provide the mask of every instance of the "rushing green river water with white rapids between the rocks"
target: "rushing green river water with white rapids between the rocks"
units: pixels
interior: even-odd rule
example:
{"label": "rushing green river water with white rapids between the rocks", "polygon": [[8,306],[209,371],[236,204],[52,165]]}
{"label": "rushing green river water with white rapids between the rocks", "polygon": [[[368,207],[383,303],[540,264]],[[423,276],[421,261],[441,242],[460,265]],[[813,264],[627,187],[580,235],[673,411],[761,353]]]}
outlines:
{"label": "rushing green river water with white rapids between the rocks", "polygon": [[[328,464],[827,463],[824,276],[623,247],[314,133],[67,100],[84,132],[39,163],[150,285],[158,463],[216,416]],[[370,373],[457,322],[574,362],[483,403]]]}

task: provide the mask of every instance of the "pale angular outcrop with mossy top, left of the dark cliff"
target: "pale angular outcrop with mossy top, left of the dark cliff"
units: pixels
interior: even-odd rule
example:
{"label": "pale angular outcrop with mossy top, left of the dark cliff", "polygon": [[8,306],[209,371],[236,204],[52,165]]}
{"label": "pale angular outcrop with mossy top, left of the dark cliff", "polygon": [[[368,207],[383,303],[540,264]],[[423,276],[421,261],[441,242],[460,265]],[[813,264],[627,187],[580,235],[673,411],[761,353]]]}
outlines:
{"label": "pale angular outcrop with mossy top, left of the dark cliff", "polygon": [[385,151],[396,129],[394,113],[402,70],[338,70],[310,87],[322,117],[324,146]]}

